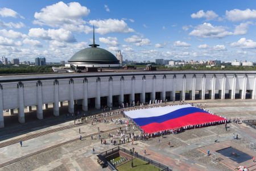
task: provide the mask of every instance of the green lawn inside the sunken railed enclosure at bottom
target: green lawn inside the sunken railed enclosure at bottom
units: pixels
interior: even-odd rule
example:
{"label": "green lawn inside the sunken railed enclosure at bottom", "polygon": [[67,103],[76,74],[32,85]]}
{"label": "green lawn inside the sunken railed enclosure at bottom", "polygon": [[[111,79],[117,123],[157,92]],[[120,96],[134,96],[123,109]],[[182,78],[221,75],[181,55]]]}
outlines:
{"label": "green lawn inside the sunken railed enclosure at bottom", "polygon": [[133,159],[133,168],[131,168],[131,161],[119,166],[118,171],[159,171],[160,169],[152,164],[147,164],[147,162],[141,159]]}

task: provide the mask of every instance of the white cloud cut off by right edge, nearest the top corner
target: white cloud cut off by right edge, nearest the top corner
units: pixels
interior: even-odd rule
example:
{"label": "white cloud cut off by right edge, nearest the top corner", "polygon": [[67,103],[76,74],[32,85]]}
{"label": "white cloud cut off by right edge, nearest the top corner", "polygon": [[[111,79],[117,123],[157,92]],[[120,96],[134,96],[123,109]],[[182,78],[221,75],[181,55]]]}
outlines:
{"label": "white cloud cut off by right edge, nearest the top corner", "polygon": [[226,11],[226,18],[232,22],[238,22],[241,20],[256,19],[256,10],[230,10]]}

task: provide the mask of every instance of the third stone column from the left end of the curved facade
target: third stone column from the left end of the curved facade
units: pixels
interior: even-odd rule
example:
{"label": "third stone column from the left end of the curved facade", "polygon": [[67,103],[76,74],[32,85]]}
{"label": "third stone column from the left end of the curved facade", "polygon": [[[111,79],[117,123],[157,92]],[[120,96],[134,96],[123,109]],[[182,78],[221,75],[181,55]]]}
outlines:
{"label": "third stone column from the left end of the curved facade", "polygon": [[[43,119],[43,99],[42,99],[42,82],[36,82],[36,97],[37,97],[37,105],[36,105],[36,117],[38,119]],[[47,105],[47,104],[46,104]],[[47,105],[48,108],[48,105]]]}

